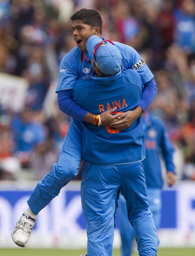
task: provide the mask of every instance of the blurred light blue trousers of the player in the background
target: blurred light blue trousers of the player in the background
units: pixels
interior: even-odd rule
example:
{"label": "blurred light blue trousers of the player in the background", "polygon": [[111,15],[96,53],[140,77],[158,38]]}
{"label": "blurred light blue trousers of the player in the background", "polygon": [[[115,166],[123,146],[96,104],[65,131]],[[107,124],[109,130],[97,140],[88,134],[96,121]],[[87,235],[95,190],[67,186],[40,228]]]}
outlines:
{"label": "blurred light blue trousers of the player in the background", "polygon": [[[161,189],[147,188],[147,197],[149,207],[152,212],[152,217],[156,229],[160,226],[160,214],[161,214]],[[120,221],[120,234],[121,234],[121,255],[131,256],[133,249],[134,230],[129,224],[127,207],[125,198],[120,195],[118,200],[119,204],[119,221]]]}

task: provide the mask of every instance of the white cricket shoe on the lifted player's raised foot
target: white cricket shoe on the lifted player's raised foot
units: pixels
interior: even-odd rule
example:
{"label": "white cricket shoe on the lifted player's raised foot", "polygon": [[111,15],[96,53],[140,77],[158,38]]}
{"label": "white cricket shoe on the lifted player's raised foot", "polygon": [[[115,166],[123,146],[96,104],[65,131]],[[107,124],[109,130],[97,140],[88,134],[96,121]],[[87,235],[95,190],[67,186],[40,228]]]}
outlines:
{"label": "white cricket shoe on the lifted player's raised foot", "polygon": [[20,247],[25,247],[34,225],[35,220],[23,214],[16,222],[16,226],[11,233],[13,242]]}

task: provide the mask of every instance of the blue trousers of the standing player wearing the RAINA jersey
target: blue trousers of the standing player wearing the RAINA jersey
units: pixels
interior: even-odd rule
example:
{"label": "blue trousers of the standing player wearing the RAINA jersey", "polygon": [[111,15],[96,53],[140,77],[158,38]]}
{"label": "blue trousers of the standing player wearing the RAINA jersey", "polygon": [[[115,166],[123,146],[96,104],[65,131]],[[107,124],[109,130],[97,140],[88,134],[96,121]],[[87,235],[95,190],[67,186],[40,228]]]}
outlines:
{"label": "blue trousers of the standing player wearing the RAINA jersey", "polygon": [[139,255],[155,256],[159,240],[149,210],[142,163],[104,166],[84,161],[81,202],[87,221],[87,256],[112,256],[119,192],[126,199]]}

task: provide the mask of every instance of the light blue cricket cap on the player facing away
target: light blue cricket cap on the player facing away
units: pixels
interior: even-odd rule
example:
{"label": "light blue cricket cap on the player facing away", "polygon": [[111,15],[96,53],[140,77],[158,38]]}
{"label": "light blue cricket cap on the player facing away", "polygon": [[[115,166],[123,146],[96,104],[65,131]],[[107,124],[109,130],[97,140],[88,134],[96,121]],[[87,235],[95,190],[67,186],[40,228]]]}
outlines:
{"label": "light blue cricket cap on the player facing away", "polygon": [[[103,41],[99,36],[90,36],[86,43],[87,52],[94,60],[93,49]],[[121,68],[122,56],[118,48],[109,43],[103,42],[95,52],[95,59],[100,71],[106,75],[114,75]],[[95,63],[95,60],[94,60]]]}

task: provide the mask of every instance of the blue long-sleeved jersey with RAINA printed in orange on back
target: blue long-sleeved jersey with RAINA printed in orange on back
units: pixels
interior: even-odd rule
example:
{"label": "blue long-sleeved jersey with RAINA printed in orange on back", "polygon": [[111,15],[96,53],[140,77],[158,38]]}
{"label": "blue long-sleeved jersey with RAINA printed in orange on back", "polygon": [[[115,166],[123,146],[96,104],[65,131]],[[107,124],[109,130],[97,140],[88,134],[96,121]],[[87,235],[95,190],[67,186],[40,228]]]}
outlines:
{"label": "blue long-sleeved jersey with RAINA printed in orange on back", "polygon": [[[100,114],[114,106],[116,112],[134,110],[143,91],[140,75],[128,69],[112,77],[78,79],[72,99],[90,113]],[[82,157],[97,164],[120,164],[138,162],[145,157],[142,116],[127,129],[115,131],[109,126],[94,126],[81,122]]]}

